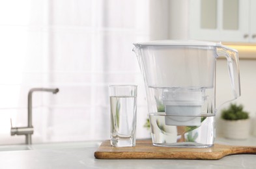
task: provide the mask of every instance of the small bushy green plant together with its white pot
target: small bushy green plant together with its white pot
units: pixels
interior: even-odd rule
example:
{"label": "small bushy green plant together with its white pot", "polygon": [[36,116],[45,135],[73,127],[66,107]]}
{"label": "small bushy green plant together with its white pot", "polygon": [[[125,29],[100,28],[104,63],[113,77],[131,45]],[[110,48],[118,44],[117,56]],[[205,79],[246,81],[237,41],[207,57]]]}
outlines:
{"label": "small bushy green plant together with its white pot", "polygon": [[246,139],[249,136],[249,113],[242,105],[232,104],[221,111],[223,134],[226,138]]}

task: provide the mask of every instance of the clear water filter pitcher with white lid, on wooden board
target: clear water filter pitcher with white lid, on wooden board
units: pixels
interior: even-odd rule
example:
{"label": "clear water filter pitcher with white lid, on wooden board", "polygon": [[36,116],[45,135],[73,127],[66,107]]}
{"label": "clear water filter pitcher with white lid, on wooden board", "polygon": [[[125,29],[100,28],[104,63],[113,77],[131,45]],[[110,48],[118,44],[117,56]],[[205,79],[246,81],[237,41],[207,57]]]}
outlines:
{"label": "clear water filter pitcher with white lid, on wooden board", "polygon": [[214,42],[134,44],[143,73],[155,146],[206,148],[215,138],[216,59],[223,56],[232,99],[240,96],[238,52]]}

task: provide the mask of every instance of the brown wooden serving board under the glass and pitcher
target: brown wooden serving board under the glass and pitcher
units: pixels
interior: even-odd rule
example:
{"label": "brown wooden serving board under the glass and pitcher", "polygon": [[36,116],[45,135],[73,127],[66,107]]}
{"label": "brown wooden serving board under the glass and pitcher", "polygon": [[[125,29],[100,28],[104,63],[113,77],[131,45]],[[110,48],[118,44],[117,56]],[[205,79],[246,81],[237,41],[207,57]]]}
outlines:
{"label": "brown wooden serving board under the glass and pitcher", "polygon": [[115,148],[102,142],[94,152],[96,159],[201,159],[216,160],[226,155],[256,154],[256,146],[214,144],[211,148],[167,148],[153,146],[151,140],[136,140],[136,146]]}

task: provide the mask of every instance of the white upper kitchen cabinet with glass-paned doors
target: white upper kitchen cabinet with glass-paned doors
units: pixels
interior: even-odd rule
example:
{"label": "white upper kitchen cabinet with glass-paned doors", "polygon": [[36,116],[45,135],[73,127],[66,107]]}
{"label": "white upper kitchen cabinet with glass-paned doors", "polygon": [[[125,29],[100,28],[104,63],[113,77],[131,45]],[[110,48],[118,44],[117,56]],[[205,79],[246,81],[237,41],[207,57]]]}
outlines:
{"label": "white upper kitchen cabinet with glass-paned doors", "polygon": [[193,0],[188,8],[191,39],[256,42],[255,0]]}

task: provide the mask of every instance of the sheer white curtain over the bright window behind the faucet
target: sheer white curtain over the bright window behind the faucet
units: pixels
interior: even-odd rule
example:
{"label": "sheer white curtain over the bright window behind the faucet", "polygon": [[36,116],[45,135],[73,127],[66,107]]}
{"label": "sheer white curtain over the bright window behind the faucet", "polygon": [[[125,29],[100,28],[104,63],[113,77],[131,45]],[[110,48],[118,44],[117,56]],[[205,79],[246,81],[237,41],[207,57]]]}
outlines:
{"label": "sheer white curtain over the bright window behind the faucet", "polygon": [[147,103],[134,42],[168,38],[168,1],[9,0],[0,2],[0,144],[27,125],[33,94],[33,143],[109,138],[108,85],[138,85],[137,138]]}

